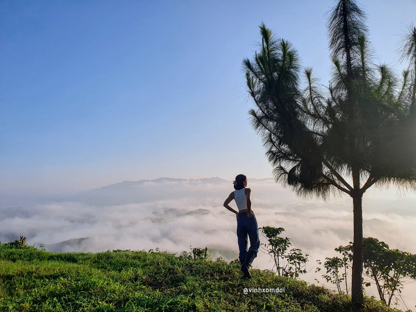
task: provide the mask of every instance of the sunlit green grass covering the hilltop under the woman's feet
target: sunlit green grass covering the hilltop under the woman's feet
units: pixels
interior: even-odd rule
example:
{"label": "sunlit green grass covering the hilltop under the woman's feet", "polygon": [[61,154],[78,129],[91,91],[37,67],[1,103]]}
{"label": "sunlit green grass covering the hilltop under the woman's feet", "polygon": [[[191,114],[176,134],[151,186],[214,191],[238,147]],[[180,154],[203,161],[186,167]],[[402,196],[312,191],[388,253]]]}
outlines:
{"label": "sunlit green grass covering the hilltop under the woman's feet", "polygon": [[[350,311],[350,297],[238,263],[168,252],[51,253],[0,244],[0,311]],[[243,294],[285,287],[285,293]],[[363,311],[397,311],[365,297]]]}

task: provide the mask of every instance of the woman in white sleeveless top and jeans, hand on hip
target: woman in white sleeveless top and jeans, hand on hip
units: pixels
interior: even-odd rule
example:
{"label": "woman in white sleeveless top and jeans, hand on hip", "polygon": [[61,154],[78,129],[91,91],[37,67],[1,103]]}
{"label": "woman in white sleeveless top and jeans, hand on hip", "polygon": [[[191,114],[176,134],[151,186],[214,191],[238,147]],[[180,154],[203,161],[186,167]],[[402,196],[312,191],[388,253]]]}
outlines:
{"label": "woman in white sleeveless top and jeans, hand on hip", "polygon": [[[257,219],[253,210],[251,210],[251,190],[246,188],[247,182],[247,177],[244,174],[239,174],[235,177],[235,181],[233,181],[235,191],[231,192],[230,196],[225,200],[224,207],[237,216],[237,238],[240,250],[238,258],[240,259],[244,277],[251,278],[249,267],[254,258],[257,257],[260,248],[260,238]],[[228,206],[233,199],[237,204],[238,211]],[[247,236],[250,239],[249,249],[247,249]]]}

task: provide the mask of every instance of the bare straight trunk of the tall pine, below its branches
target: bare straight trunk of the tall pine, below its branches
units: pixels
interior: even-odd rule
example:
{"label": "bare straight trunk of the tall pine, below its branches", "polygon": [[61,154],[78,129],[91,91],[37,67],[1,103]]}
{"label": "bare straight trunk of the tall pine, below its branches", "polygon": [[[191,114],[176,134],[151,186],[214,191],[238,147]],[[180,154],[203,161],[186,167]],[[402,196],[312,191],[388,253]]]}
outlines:
{"label": "bare straight trunk of the tall pine, below its branches", "polygon": [[[355,190],[354,190],[355,191]],[[354,192],[354,242],[353,259],[352,259],[352,287],[351,297],[352,306],[355,309],[362,307],[363,290],[362,290],[362,272],[363,272],[363,217],[362,217],[362,194]]]}

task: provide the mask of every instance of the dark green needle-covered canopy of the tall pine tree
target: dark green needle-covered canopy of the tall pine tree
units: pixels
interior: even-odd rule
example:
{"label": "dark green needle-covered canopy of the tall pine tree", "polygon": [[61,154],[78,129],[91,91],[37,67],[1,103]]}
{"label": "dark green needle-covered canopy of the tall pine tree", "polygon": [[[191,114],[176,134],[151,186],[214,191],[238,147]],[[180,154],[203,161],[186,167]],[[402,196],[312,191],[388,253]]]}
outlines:
{"label": "dark green needle-covered canopy of the tall pine tree", "polygon": [[[336,23],[336,18],[328,23],[332,32]],[[276,181],[300,196],[351,195],[347,180],[357,164],[366,178],[363,192],[372,185],[415,188],[416,68],[409,66],[397,77],[387,64],[374,64],[365,32],[354,30],[348,73],[340,39],[330,32],[332,79],[322,87],[312,68],[302,70],[290,42],[264,24],[260,33],[260,51],[243,65],[257,106],[249,111],[251,124],[262,137]],[[409,65],[416,64],[416,35],[411,35],[402,49]]]}

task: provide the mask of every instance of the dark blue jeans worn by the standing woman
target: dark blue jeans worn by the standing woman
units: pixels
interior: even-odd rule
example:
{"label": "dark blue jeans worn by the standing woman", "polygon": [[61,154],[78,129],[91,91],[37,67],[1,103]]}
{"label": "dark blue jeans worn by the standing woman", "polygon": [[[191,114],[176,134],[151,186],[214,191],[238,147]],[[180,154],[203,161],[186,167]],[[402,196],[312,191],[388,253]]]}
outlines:
{"label": "dark blue jeans worn by the standing woman", "polygon": [[[254,215],[254,213],[253,213]],[[250,248],[248,247],[247,236],[250,239]],[[245,262],[248,252],[257,255],[260,248],[259,230],[257,225],[257,219],[248,218],[247,211],[238,213],[237,219],[237,238],[238,248],[240,249],[239,259],[241,262]]]}

